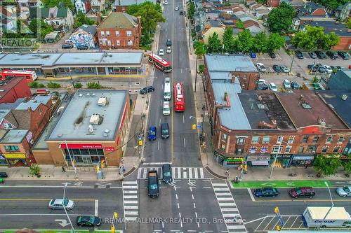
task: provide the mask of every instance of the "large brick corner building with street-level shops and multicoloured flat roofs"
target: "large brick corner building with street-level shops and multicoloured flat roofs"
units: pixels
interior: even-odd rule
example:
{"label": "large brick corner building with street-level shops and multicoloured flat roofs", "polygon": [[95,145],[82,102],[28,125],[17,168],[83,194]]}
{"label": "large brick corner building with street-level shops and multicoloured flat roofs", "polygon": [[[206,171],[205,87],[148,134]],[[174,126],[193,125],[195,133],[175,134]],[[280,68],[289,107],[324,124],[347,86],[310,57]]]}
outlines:
{"label": "large brick corner building with street-level shops and multicoloured flat roofs", "polygon": [[[204,82],[219,164],[236,167],[244,159],[252,167],[267,167],[277,155],[277,167],[308,167],[316,154],[345,153],[351,119],[343,109],[350,109],[351,101],[340,95],[350,96],[350,91],[242,90],[237,78],[212,72]],[[331,99],[338,108],[329,104]]]}

